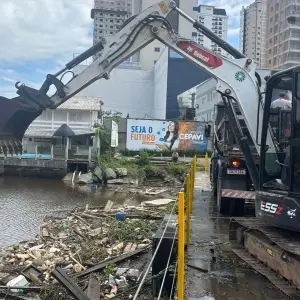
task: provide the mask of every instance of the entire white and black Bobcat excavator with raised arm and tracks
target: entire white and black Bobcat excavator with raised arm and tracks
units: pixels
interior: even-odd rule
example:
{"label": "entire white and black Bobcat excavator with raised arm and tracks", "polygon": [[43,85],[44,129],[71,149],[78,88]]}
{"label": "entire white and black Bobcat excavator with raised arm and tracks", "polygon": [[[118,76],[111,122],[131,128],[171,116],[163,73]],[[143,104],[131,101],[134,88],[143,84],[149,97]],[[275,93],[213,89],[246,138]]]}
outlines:
{"label": "entire white and black Bobcat excavator with raised arm and tracks", "polygon": [[[233,59],[181,37],[168,16],[178,13],[202,34],[227,51]],[[22,138],[30,123],[46,109],[55,109],[99,79],[153,40],[177,52],[216,79],[229,123],[238,142],[255,190],[255,217],[232,218],[229,239],[233,251],[267,276],[288,296],[298,299],[300,288],[300,67],[278,71],[261,78],[253,59],[222,40],[176,7],[163,0],[128,19],[120,31],[83,52],[56,74],[48,74],[40,89],[16,83],[18,96],[0,97],[0,148],[20,153]],[[82,61],[99,53],[81,73],[67,82],[62,78]],[[262,90],[264,86],[265,90]],[[49,95],[50,87],[55,88]],[[278,90],[292,93],[289,151],[280,147],[273,134],[271,102]],[[247,126],[244,135],[235,107]],[[299,106],[299,108],[298,108]],[[259,154],[259,162],[250,145]],[[286,174],[284,183],[282,173]],[[298,183],[299,181],[299,183]]]}

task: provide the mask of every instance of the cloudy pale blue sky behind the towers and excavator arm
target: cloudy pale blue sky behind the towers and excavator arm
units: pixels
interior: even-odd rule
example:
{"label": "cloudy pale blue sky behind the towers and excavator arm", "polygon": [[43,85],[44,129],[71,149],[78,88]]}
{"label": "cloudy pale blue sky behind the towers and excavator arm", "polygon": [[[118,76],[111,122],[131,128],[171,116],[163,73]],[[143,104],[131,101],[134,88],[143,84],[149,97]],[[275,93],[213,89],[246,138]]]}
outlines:
{"label": "cloudy pale blue sky behind the towers and excavator arm", "polygon": [[[225,8],[228,41],[238,47],[239,14],[254,0],[201,0]],[[0,1],[0,96],[15,97],[15,83],[40,88],[47,74],[92,46],[93,0]]]}

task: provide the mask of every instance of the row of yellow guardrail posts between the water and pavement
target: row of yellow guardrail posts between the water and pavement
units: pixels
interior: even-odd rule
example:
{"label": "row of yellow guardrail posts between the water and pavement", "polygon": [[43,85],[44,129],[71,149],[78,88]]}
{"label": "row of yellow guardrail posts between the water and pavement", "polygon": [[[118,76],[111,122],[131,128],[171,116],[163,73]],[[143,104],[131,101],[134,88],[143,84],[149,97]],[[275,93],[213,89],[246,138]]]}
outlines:
{"label": "row of yellow guardrail posts between the water and pavement", "polygon": [[[207,156],[208,162],[208,156]],[[208,163],[207,163],[208,166]],[[177,299],[184,300],[184,256],[185,245],[190,243],[190,221],[193,209],[197,157],[192,160],[191,168],[185,179],[185,193],[178,194],[178,257],[177,257]],[[186,209],[185,209],[186,208]]]}

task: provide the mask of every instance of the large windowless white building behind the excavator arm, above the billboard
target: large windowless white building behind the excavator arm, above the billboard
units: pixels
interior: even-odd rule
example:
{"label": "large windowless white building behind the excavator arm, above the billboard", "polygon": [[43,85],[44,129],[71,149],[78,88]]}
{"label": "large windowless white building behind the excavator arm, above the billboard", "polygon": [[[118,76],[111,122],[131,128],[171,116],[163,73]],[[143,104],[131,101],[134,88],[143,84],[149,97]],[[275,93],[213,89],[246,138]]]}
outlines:
{"label": "large windowless white building behind the excavator arm, above the billboard", "polygon": [[[74,73],[87,66],[79,65]],[[168,49],[150,70],[141,70],[135,63],[126,62],[114,68],[110,79],[100,79],[79,93],[80,96],[101,95],[104,111],[121,112],[131,118],[164,119],[168,73]]]}

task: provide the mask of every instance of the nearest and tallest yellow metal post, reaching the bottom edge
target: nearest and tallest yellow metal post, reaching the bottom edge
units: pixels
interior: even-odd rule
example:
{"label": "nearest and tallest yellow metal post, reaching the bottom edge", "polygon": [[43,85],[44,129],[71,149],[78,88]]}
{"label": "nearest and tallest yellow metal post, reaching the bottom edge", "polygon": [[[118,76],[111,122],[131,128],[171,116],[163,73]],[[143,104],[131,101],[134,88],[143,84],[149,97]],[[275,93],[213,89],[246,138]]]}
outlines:
{"label": "nearest and tallest yellow metal post, reaching the bottom edge", "polygon": [[178,193],[178,279],[177,299],[184,299],[184,193]]}

